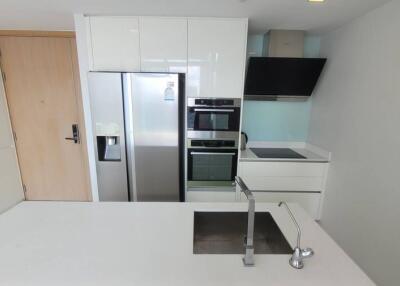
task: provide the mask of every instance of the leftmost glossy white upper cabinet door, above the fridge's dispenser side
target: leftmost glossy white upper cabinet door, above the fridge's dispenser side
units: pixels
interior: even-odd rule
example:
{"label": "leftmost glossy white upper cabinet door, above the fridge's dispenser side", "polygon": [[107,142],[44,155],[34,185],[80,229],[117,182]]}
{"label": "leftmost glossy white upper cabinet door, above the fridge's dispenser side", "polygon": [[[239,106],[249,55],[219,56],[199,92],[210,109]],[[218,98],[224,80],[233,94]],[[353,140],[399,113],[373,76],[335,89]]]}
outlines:
{"label": "leftmost glossy white upper cabinet door, above the fridge's dispenser side", "polygon": [[138,17],[89,17],[91,70],[140,71]]}

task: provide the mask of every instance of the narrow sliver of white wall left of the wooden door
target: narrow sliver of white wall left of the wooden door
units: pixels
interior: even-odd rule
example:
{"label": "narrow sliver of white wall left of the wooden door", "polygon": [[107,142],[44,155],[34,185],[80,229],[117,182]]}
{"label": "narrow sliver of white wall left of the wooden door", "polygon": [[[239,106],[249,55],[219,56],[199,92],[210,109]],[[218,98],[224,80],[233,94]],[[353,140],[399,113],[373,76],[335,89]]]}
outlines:
{"label": "narrow sliver of white wall left of the wooden door", "polygon": [[3,81],[0,77],[0,213],[23,199],[24,192],[22,190]]}

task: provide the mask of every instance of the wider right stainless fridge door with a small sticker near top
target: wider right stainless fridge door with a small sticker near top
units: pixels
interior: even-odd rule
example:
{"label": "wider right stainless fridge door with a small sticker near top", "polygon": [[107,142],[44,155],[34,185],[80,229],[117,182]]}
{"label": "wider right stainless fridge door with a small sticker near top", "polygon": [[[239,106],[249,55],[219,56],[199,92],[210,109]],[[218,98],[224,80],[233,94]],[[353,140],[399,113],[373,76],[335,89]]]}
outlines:
{"label": "wider right stainless fridge door with a small sticker near top", "polygon": [[137,201],[179,201],[177,74],[124,74],[128,170]]}

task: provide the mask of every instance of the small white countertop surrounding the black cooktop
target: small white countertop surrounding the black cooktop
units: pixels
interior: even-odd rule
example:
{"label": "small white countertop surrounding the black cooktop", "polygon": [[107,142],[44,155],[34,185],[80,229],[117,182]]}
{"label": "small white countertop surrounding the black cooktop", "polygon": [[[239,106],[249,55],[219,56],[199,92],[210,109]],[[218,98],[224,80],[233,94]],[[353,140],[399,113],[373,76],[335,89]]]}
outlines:
{"label": "small white countertop surrounding the black cooktop", "polygon": [[[296,158],[259,158],[250,148],[290,148],[293,151],[306,157],[305,159]],[[327,163],[330,161],[330,153],[320,148],[304,143],[275,143],[275,142],[250,142],[248,148],[241,150],[239,160],[242,162],[262,161],[262,162],[318,162]]]}

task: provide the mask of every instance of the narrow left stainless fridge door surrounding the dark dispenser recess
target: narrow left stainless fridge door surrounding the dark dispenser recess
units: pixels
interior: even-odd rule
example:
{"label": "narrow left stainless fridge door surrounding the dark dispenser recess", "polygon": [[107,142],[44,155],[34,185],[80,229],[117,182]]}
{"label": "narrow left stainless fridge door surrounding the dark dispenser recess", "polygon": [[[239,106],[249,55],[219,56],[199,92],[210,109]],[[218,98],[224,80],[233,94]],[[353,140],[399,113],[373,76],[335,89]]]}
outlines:
{"label": "narrow left stainless fridge door surrounding the dark dispenser recess", "polygon": [[[90,107],[100,201],[128,201],[120,73],[89,73]],[[99,161],[97,136],[119,138],[121,161]]]}

